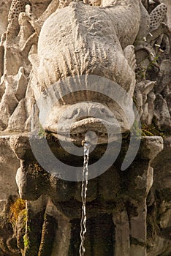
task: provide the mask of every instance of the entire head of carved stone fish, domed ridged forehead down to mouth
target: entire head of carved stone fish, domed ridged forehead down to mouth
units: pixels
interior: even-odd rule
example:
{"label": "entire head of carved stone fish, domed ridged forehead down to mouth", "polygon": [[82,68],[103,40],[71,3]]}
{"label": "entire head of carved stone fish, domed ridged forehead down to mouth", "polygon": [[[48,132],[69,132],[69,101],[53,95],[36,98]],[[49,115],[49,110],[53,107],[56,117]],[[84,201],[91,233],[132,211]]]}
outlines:
{"label": "entire head of carved stone fish, domed ridged forehead down to mouth", "polygon": [[107,143],[132,127],[134,74],[128,59],[135,62],[134,48],[129,54],[122,50],[113,20],[100,31],[104,18],[109,19],[98,7],[72,3],[51,15],[39,35],[32,88],[42,127],[62,140],[80,143],[93,131],[98,143]]}

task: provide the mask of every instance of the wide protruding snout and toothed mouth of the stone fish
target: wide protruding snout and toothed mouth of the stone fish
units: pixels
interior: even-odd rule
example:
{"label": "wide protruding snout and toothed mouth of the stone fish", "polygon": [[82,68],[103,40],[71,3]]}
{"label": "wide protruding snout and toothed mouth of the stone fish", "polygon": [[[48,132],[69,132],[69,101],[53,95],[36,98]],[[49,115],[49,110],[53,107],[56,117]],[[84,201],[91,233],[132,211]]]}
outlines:
{"label": "wide protruding snout and toothed mouth of the stone fish", "polygon": [[87,133],[93,132],[90,142],[103,144],[118,140],[129,129],[126,122],[121,110],[99,102],[78,102],[63,109],[54,106],[43,128],[59,140],[76,144],[81,144]]}

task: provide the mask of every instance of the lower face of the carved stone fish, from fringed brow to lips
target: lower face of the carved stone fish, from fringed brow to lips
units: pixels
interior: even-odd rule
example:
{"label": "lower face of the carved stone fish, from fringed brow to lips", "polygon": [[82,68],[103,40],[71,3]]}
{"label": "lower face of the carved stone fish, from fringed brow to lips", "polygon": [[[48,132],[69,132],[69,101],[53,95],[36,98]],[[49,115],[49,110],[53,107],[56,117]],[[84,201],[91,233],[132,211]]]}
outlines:
{"label": "lower face of the carved stone fish, from fringed brow to lips", "polygon": [[[108,143],[134,122],[132,100],[113,81],[94,75],[59,80],[37,98],[39,121],[46,132],[80,144],[87,132]],[[93,142],[92,142],[93,143]]]}

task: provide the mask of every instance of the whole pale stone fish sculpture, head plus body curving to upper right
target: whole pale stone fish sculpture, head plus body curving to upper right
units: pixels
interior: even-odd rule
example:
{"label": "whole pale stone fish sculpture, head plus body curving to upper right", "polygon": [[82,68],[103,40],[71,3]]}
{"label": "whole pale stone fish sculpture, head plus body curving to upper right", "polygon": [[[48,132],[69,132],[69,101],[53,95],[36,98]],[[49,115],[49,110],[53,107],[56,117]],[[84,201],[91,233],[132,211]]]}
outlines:
{"label": "whole pale stone fish sculpture, head plus body curving to upper right", "polygon": [[[140,30],[141,5],[140,0],[104,1],[102,7],[72,1],[68,7],[56,10],[47,18],[39,34],[37,61],[34,61],[31,80],[40,116],[47,112],[49,102],[53,102],[46,120],[42,121],[47,132],[66,139],[65,129],[69,126],[74,141],[93,130],[99,135],[99,143],[105,143],[105,127],[112,130],[118,127],[118,122],[121,132],[130,129],[134,119],[130,113],[132,104],[128,107],[128,117],[121,106],[105,95],[105,87],[104,94],[98,94],[93,86],[90,91],[91,85],[86,87],[86,79],[88,75],[105,78],[112,81],[113,89],[118,84],[132,98],[136,65],[133,43]],[[78,82],[73,82],[76,77],[77,81],[85,81],[83,90]],[[73,78],[72,81],[69,78]],[[62,94],[64,87],[68,95]],[[40,94],[43,95],[41,100]],[[57,94],[61,94],[61,99]],[[115,94],[118,94],[117,90]],[[118,101],[127,104],[125,97]],[[113,121],[113,115],[116,121]],[[60,118],[63,122],[58,126]],[[115,130],[110,140],[114,140]]]}

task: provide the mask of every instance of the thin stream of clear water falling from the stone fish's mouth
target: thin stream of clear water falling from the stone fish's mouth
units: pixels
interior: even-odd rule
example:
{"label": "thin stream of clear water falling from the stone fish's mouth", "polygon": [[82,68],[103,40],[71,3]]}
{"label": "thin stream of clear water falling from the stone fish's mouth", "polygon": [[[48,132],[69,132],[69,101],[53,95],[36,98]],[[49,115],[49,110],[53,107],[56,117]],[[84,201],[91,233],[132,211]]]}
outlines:
{"label": "thin stream of clear water falling from the stone fish's mouth", "polygon": [[83,178],[82,178],[82,187],[81,187],[81,198],[82,198],[82,216],[80,221],[80,256],[83,256],[86,249],[84,247],[85,235],[86,235],[86,196],[87,196],[87,186],[88,186],[88,156],[90,143],[86,142],[84,146],[84,164],[83,164]]}

